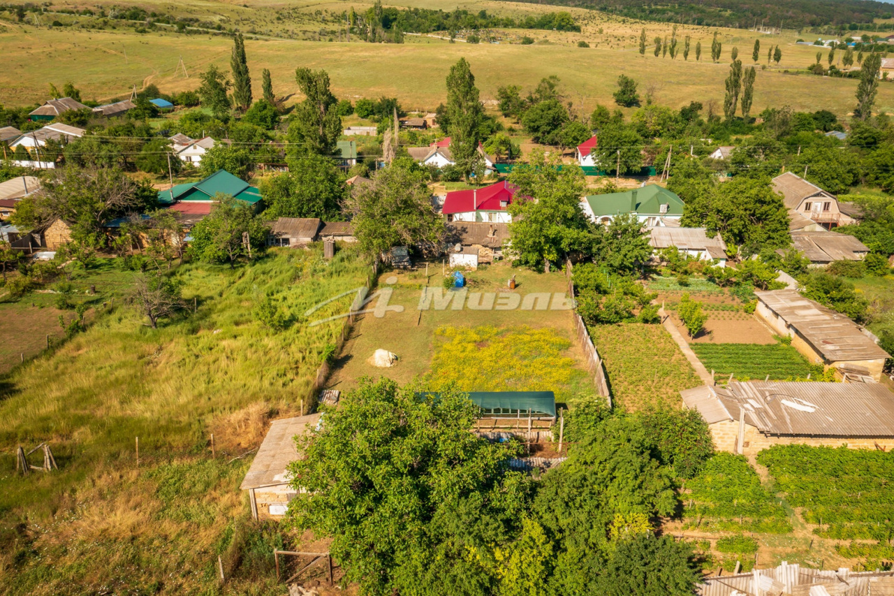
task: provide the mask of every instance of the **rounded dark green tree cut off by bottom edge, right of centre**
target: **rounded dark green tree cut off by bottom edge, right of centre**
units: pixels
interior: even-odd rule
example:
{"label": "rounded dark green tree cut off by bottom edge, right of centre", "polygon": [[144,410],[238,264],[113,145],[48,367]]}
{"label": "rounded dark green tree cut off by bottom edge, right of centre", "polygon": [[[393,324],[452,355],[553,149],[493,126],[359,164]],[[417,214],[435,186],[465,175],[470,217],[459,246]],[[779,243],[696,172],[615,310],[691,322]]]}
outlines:
{"label": "rounded dark green tree cut off by bottom edge, right of centre", "polygon": [[640,533],[611,550],[595,592],[601,596],[687,596],[701,574],[690,562],[692,547],[673,536]]}

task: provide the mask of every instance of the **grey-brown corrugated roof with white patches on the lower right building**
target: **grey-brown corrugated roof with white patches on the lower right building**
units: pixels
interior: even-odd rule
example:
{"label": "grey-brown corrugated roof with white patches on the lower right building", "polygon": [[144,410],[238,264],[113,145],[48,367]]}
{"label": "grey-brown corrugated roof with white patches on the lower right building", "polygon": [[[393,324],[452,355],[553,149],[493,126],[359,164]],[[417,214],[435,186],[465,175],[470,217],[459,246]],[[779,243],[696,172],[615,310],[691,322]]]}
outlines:
{"label": "grey-brown corrugated roof with white patches on the lower right building", "polygon": [[[894,394],[878,383],[733,381],[706,387],[713,393],[681,391],[684,402],[705,421],[745,421],[768,435],[801,437],[894,437]],[[729,419],[727,419],[729,420]]]}

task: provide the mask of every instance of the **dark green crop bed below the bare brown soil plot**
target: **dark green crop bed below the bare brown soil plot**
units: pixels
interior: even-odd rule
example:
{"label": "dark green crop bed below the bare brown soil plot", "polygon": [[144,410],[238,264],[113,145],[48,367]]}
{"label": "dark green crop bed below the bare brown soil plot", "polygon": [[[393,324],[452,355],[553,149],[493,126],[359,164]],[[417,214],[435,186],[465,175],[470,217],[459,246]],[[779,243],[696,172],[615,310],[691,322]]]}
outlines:
{"label": "dark green crop bed below the bare brown soil plot", "polygon": [[714,370],[719,379],[736,375],[738,380],[806,379],[808,374],[822,375],[822,367],[816,367],[791,345],[784,344],[700,344],[689,345],[708,370]]}

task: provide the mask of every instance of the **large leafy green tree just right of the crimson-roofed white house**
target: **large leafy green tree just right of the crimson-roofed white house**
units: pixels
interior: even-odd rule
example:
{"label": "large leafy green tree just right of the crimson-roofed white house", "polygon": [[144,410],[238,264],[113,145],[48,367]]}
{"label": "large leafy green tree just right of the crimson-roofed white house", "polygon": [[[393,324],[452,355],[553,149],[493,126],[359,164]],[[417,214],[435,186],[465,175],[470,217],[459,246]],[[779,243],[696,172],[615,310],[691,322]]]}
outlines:
{"label": "large leafy green tree just right of the crimson-roofed white house", "polygon": [[512,170],[516,200],[510,203],[509,226],[514,259],[530,268],[550,267],[590,242],[580,209],[586,177],[577,165],[559,167],[558,158],[532,153],[528,164]]}

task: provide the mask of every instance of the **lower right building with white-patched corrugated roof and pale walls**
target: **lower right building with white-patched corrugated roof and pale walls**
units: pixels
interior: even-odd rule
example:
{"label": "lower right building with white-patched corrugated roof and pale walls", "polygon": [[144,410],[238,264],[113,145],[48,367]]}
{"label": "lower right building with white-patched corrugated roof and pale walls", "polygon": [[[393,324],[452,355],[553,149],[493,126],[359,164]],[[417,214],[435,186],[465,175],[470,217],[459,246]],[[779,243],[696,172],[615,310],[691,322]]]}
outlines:
{"label": "lower right building with white-patched corrugated roof and pale walls", "polygon": [[894,447],[894,394],[879,383],[733,381],[680,391],[714,445],[755,456],[773,445]]}

